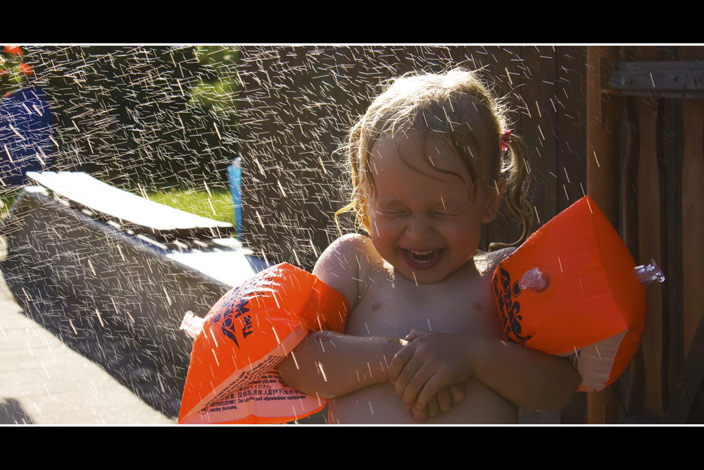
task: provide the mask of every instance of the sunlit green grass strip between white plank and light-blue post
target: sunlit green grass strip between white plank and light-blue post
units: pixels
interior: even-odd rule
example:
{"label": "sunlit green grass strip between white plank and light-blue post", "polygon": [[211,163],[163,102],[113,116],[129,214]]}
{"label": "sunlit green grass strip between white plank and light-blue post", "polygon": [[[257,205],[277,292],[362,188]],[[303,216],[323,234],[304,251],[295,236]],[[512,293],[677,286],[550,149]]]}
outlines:
{"label": "sunlit green grass strip between white plank and light-blue post", "polygon": [[210,189],[208,192],[171,188],[170,190],[147,192],[146,197],[154,202],[196,214],[196,216],[208,217],[234,225],[234,207],[229,190],[216,188]]}

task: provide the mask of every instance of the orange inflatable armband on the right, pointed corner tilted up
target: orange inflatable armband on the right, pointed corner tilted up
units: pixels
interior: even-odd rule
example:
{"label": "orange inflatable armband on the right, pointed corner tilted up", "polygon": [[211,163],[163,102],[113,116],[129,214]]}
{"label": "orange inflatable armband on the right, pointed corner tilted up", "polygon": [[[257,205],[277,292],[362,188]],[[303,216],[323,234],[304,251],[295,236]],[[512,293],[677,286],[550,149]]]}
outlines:
{"label": "orange inflatable armband on the right, pointed corner tilted up", "polygon": [[492,284],[506,340],[577,354],[579,390],[602,390],[625,371],[646,325],[646,287],[665,280],[636,266],[587,196],[548,221],[496,267]]}

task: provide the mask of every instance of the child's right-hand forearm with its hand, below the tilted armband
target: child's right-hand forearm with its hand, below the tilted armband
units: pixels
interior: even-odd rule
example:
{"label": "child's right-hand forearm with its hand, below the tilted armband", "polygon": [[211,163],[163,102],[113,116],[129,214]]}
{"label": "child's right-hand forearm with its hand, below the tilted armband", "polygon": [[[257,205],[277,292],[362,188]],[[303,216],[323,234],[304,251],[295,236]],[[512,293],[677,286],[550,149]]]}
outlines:
{"label": "child's right-hand forearm with its hand, below the tilted armband", "polygon": [[479,335],[417,330],[389,364],[389,378],[407,407],[424,408],[438,390],[474,376],[525,409],[562,409],[579,374],[567,359]]}

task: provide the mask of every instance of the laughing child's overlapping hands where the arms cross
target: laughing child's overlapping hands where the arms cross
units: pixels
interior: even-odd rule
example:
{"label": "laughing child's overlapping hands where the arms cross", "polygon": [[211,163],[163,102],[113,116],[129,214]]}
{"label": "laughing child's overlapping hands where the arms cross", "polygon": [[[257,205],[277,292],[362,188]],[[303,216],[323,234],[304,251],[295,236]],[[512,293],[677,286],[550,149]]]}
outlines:
{"label": "laughing child's overlapping hands where the arms cross", "polygon": [[437,409],[446,411],[460,401],[464,388],[459,385],[451,388],[451,385],[464,382],[474,372],[471,340],[466,335],[424,330],[413,330],[405,339],[410,342],[389,364],[389,380],[404,406],[413,409],[417,419],[420,414],[416,416],[415,409],[431,407],[427,416],[434,416],[429,413],[436,414]]}

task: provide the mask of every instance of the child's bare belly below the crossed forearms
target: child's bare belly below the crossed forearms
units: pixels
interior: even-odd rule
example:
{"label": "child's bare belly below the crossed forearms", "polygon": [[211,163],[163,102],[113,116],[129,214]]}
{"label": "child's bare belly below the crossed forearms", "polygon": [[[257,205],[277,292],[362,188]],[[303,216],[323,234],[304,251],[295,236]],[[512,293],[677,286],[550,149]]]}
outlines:
{"label": "child's bare belly below the crossed forearms", "polygon": [[[511,424],[518,422],[518,408],[474,378],[465,382],[465,399],[448,412],[424,424]],[[390,383],[372,385],[329,402],[331,424],[413,424]]]}

